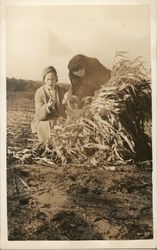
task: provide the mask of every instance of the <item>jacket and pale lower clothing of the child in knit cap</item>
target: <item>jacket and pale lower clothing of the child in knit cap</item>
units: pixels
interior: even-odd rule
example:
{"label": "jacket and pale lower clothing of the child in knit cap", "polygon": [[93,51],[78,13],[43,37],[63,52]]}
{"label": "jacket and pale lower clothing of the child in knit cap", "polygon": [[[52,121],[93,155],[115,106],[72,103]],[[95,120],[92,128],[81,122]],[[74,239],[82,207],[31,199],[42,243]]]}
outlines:
{"label": "jacket and pale lower clothing of the child in knit cap", "polygon": [[67,92],[69,85],[56,85],[57,102],[55,108],[48,108],[50,95],[43,85],[37,89],[35,94],[35,116],[31,124],[32,132],[37,133],[39,142],[47,142],[51,137],[51,128],[56,124],[59,117],[66,118],[66,108],[62,103],[64,94]]}

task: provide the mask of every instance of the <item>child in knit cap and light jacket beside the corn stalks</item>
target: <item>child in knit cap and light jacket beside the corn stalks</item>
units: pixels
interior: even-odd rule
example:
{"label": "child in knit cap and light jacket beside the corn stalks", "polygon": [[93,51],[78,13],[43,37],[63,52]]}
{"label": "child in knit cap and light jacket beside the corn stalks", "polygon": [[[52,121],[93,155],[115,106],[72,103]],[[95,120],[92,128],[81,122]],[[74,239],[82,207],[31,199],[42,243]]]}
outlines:
{"label": "child in knit cap and light jacket beside the corn stalks", "polygon": [[35,94],[35,116],[31,124],[32,132],[37,133],[40,143],[47,143],[51,138],[51,129],[60,117],[66,118],[64,95],[69,86],[61,87],[57,71],[53,66],[46,67],[42,74],[43,85]]}

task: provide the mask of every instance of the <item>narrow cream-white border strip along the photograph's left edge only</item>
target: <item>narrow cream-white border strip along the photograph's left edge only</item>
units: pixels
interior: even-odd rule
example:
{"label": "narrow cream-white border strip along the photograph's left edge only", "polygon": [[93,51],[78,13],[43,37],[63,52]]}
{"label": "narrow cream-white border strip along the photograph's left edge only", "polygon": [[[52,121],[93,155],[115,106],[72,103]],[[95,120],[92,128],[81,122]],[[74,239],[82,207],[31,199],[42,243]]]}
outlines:
{"label": "narrow cream-white border strip along the photograph's left edge only", "polygon": [[[0,2],[0,177],[1,177],[1,242],[7,233],[6,190],[6,40],[5,4]],[[3,234],[4,233],[4,234]],[[4,238],[5,237],[5,238]]]}

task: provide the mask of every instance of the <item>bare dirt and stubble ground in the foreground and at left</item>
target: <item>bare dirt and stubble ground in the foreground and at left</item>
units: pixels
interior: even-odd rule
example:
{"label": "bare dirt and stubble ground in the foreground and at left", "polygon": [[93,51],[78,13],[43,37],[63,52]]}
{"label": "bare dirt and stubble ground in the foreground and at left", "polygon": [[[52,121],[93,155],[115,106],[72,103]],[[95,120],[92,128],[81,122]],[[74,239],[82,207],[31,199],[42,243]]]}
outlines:
{"label": "bare dirt and stubble ground in the foreground and at left", "polygon": [[32,117],[8,111],[8,239],[152,239],[151,163],[55,167],[33,159]]}

